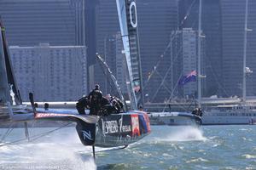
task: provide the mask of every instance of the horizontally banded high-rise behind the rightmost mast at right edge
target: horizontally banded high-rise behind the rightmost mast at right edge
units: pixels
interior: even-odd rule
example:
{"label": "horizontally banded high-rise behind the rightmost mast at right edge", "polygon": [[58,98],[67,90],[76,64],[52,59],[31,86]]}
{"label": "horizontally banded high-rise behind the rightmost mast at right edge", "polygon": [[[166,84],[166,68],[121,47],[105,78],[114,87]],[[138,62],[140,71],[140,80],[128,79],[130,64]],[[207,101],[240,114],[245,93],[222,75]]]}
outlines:
{"label": "horizontally banded high-rise behind the rightmost mast at right edge", "polygon": [[[225,96],[241,96],[246,1],[221,0],[223,26],[223,83]],[[256,95],[256,2],[248,1],[247,96]],[[250,31],[252,30],[252,31]]]}

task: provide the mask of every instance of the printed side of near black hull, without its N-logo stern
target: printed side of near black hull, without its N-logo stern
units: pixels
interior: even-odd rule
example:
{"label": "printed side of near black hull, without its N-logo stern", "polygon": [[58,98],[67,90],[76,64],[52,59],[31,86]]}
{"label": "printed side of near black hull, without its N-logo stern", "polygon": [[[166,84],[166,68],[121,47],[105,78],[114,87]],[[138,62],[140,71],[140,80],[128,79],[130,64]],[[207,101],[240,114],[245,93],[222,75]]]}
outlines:
{"label": "printed side of near black hull, without its N-logo stern", "polygon": [[96,127],[96,146],[129,145],[150,133],[147,114],[124,113],[101,117]]}

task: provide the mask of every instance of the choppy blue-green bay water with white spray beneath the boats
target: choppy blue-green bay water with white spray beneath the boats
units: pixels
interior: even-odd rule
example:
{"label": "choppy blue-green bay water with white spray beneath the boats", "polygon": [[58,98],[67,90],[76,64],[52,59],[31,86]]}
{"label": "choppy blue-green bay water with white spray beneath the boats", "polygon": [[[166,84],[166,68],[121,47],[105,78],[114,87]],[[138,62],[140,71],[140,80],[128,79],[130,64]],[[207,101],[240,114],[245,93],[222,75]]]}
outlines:
{"label": "choppy blue-green bay water with white spray beneath the boats", "polygon": [[[0,169],[256,169],[255,132],[256,126],[155,126],[125,150],[96,153],[95,164],[90,147],[67,127],[34,142],[0,147]],[[23,129],[15,129],[8,140],[20,133]]]}

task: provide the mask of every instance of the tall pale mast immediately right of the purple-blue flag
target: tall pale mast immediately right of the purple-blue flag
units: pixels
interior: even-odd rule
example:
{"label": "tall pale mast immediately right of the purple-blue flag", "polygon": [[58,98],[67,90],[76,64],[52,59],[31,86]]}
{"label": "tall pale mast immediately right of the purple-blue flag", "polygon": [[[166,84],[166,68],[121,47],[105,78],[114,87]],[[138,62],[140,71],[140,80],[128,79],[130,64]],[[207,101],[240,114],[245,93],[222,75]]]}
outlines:
{"label": "tall pale mast immediately right of the purple-blue flag", "polygon": [[198,18],[198,45],[197,45],[197,99],[198,107],[201,108],[201,0],[199,0],[199,18]]}

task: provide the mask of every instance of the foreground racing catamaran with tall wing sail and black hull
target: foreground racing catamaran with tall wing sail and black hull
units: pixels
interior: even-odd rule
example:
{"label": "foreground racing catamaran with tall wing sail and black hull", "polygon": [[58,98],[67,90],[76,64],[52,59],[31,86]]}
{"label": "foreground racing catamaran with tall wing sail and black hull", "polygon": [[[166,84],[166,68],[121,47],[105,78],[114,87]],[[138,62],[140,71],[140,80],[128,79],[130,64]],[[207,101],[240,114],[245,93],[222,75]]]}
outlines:
{"label": "foreground racing catamaran with tall wing sail and black hull", "polygon": [[[128,8],[128,7],[130,8]],[[128,38],[129,36],[137,35],[137,24],[131,25],[130,16],[137,16],[131,14],[136,12],[136,3],[134,1],[117,0],[117,8],[119,12],[119,21],[122,34]],[[131,10],[133,8],[133,10]],[[123,15],[122,15],[123,14]],[[125,17],[125,18],[124,18]],[[137,22],[137,20],[136,20]],[[125,25],[123,25],[126,23]],[[128,24],[127,24],[128,23]],[[134,24],[134,23],[133,23]],[[133,26],[133,29],[128,29]],[[93,116],[93,115],[79,115],[76,110],[48,110],[36,109],[33,95],[30,94],[31,107],[22,105],[20,93],[15,83],[15,75],[12,69],[9,48],[5,38],[5,30],[3,22],[0,20],[0,123],[15,123],[24,122],[26,136],[28,137],[27,122],[32,120],[47,120],[47,121],[63,121],[63,122],[76,122],[76,130],[79,134],[79,139],[82,144],[100,147],[115,147],[124,146],[137,142],[143,139],[150,133],[150,123],[148,114],[144,111],[137,111],[138,105],[142,105],[142,88],[137,92],[133,89],[140,86],[140,77],[136,75],[134,69],[131,69],[131,48],[127,48],[130,42],[124,42],[125,58],[127,61],[127,68],[130,78],[130,90],[132,97],[131,108],[134,111],[126,111],[124,113],[113,114],[108,116]],[[126,29],[127,32],[123,30]],[[131,34],[132,31],[132,34]],[[123,37],[125,37],[123,36]],[[134,47],[138,54],[138,46]],[[137,57],[133,55],[133,57]],[[134,68],[134,65],[133,65]],[[137,77],[135,77],[137,76]],[[138,79],[137,79],[138,78]],[[137,94],[136,94],[137,93]],[[7,143],[8,144],[8,143]]]}

